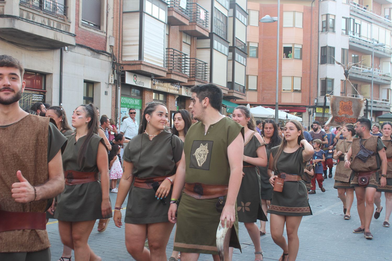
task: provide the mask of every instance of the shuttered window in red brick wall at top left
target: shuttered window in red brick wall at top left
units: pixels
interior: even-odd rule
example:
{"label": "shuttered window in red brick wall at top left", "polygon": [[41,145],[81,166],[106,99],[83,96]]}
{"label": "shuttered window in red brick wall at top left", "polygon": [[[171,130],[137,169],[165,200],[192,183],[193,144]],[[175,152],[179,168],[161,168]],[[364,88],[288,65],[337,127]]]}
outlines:
{"label": "shuttered window in red brick wall at top left", "polygon": [[96,29],[101,29],[101,9],[101,0],[83,0],[82,23]]}

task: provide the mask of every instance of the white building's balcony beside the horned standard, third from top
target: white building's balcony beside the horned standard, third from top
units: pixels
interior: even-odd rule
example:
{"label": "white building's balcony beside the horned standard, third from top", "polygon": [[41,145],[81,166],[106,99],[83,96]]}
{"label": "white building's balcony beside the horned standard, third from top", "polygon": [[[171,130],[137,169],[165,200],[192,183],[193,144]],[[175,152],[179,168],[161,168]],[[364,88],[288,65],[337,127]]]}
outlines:
{"label": "white building's balcony beside the horned standard, third from top", "polygon": [[[352,63],[348,63],[349,65]],[[366,70],[366,71],[365,71]],[[368,72],[371,71],[372,68],[363,66],[363,65],[356,65],[351,67],[349,79],[354,79],[358,81],[366,81],[368,83],[372,82],[372,73]],[[392,77],[389,72],[385,72],[379,69],[374,69],[373,71],[373,82],[375,84],[380,85],[390,85],[392,81]]]}

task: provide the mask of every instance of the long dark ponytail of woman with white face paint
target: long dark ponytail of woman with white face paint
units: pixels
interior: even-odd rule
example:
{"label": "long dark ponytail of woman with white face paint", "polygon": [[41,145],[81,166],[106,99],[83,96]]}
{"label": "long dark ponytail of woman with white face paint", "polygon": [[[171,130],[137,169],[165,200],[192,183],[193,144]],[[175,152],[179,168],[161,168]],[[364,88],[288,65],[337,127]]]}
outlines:
{"label": "long dark ponytail of woman with white face paint", "polygon": [[80,167],[83,166],[83,163],[86,159],[86,150],[87,146],[89,145],[91,137],[93,137],[94,134],[98,133],[98,113],[97,113],[97,108],[95,107],[94,104],[82,104],[80,107],[83,107],[83,109],[86,112],[86,117],[91,117],[91,121],[87,123],[87,135],[86,139],[84,140],[82,146],[79,149],[78,153],[78,164]]}

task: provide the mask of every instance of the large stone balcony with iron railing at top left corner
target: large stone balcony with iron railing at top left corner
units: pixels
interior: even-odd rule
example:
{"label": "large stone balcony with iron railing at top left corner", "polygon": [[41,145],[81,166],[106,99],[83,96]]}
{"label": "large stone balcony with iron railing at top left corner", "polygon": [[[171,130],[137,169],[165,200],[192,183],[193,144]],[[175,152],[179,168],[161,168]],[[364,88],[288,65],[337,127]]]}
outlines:
{"label": "large stone balcony with iron railing at top left corner", "polygon": [[42,49],[75,45],[65,0],[6,1],[3,11],[0,34],[5,40]]}

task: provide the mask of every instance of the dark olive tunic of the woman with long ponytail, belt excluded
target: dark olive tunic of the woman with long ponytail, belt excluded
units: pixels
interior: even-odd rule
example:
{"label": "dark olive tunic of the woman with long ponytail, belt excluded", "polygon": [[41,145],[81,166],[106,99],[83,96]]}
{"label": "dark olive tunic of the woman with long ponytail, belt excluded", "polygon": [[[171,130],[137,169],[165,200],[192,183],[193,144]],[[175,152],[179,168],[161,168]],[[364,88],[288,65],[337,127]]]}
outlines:
{"label": "dark olive tunic of the woman with long ponytail, belt excluded", "polygon": [[[67,136],[67,146],[63,152],[64,171],[98,172],[98,145],[105,142],[98,134],[93,134],[86,150],[86,158],[82,167],[78,164],[78,153],[86,136],[76,141],[76,135]],[[106,146],[105,146],[106,148]],[[112,214],[103,217],[101,211],[102,188],[100,180],[77,185],[65,185],[60,194],[54,218],[60,221],[78,222],[102,218],[111,218]]]}

